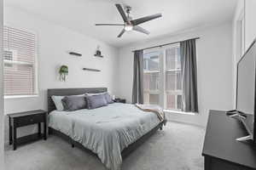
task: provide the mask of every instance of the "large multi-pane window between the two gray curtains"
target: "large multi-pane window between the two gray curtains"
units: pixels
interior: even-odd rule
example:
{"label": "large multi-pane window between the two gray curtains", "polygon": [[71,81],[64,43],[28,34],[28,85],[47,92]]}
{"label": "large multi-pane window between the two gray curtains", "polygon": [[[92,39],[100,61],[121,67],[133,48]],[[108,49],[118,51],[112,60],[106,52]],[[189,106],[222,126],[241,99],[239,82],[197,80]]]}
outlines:
{"label": "large multi-pane window between the two gray curtains", "polygon": [[144,51],[144,103],[181,111],[182,85],[179,43]]}

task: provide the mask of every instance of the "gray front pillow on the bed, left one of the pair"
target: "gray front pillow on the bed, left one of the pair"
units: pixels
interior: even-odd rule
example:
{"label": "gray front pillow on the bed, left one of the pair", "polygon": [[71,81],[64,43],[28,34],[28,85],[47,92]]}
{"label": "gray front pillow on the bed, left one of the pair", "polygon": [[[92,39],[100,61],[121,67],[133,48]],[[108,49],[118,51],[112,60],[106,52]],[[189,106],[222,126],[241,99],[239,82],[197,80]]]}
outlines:
{"label": "gray front pillow on the bed, left one of the pair", "polygon": [[86,108],[86,101],[83,96],[66,96],[61,99],[64,111],[77,111]]}

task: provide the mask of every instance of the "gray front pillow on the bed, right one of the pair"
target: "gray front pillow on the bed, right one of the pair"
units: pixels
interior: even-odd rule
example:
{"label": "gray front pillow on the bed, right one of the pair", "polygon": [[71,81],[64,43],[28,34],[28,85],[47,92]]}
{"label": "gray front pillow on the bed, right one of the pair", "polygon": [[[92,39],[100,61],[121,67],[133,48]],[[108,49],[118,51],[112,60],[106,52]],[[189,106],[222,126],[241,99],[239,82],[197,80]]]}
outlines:
{"label": "gray front pillow on the bed, right one of the pair", "polygon": [[105,94],[85,96],[88,109],[96,109],[108,105],[108,102],[105,98]]}

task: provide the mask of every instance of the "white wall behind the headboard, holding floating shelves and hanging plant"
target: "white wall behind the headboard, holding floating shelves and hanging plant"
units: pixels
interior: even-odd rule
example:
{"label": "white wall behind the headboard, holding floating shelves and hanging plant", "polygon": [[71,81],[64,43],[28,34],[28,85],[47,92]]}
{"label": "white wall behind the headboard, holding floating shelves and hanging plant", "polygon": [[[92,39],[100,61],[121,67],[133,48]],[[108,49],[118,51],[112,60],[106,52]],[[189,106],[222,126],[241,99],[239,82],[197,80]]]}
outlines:
{"label": "white wall behind the headboard, holding floating shelves and hanging plant", "polygon": [[[14,26],[38,35],[38,97],[24,99],[5,99],[4,112],[47,109],[46,93],[48,88],[96,88],[106,87],[112,94],[116,92],[118,50],[91,37],[57,26],[19,8],[4,7],[4,25]],[[100,45],[103,59],[93,55]],[[83,54],[76,57],[67,54],[73,50]],[[60,65],[69,66],[67,82],[58,80]],[[83,71],[83,67],[100,69],[101,72]],[[7,120],[6,120],[7,122]],[[7,123],[6,123],[7,124]],[[37,130],[35,126],[21,129],[23,133]],[[8,133],[6,125],[6,136]],[[18,136],[23,135],[18,132]]]}

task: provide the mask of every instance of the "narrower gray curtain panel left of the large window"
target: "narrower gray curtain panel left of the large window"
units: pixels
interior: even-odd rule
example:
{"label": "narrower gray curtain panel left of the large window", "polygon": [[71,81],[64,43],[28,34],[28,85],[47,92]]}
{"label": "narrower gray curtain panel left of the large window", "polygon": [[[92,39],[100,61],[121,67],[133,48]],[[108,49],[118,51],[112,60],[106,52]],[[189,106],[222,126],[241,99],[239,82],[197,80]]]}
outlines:
{"label": "narrower gray curtain panel left of the large window", "polygon": [[134,52],[132,103],[143,104],[143,50]]}

